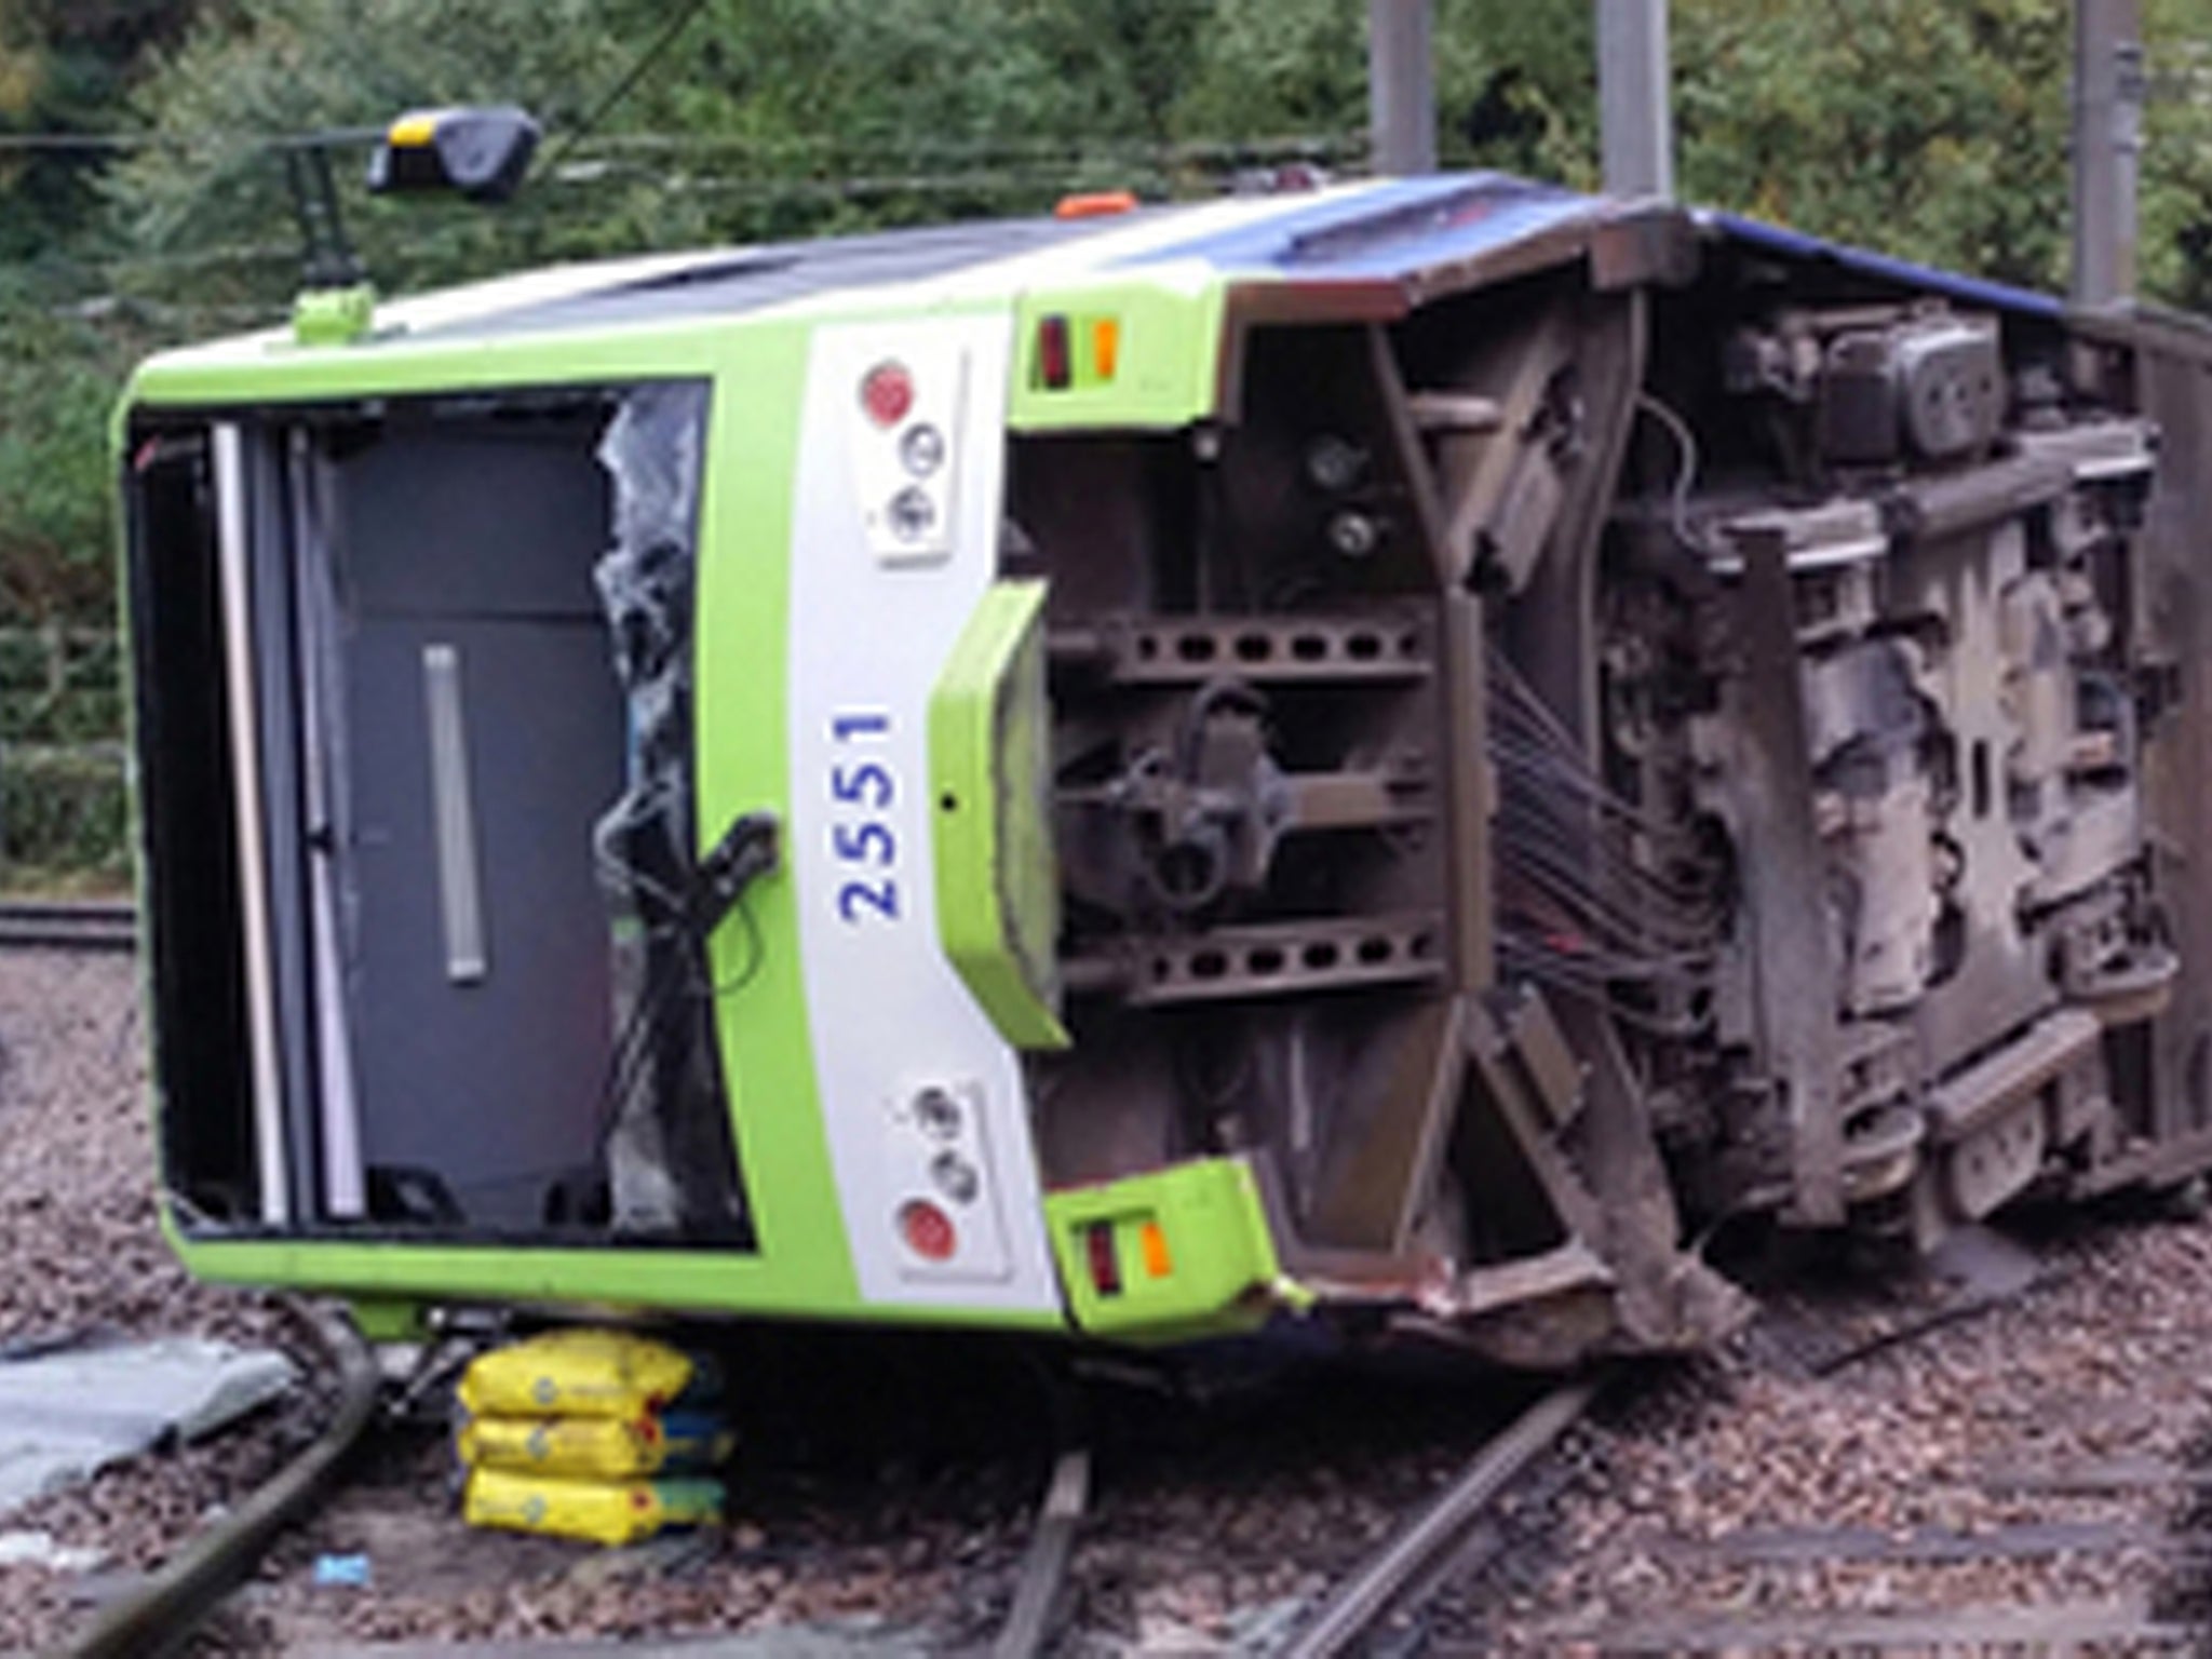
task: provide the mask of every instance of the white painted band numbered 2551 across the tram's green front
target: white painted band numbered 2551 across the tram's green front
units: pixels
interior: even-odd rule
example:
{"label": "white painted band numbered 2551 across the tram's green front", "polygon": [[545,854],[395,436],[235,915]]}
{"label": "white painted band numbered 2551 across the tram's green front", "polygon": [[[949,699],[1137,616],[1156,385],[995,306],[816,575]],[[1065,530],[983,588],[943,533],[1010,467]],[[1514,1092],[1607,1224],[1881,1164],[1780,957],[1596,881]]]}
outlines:
{"label": "white painted band numbered 2551 across the tram's green front", "polygon": [[[1004,312],[814,334],[792,498],[790,860],[814,1073],[860,1296],[1057,1312],[1060,1285],[1018,1055],[945,958],[936,916],[929,692],[998,573]],[[914,420],[942,422],[942,557],[883,560],[867,522],[889,487],[856,445],[858,387],[898,358]],[[973,1192],[962,1199],[967,1179]],[[925,1261],[898,1232],[927,1199],[958,1248]]]}

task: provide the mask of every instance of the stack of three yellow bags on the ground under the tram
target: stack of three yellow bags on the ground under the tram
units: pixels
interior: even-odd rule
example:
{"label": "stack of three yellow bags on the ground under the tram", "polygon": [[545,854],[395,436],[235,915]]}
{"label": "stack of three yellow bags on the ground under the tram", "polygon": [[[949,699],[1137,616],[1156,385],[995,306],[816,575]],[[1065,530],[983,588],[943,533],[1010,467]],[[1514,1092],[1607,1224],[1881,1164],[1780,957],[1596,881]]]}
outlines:
{"label": "stack of three yellow bags on the ground under the tram", "polygon": [[482,1354],[460,1380],[462,1517],[599,1544],[721,1520],[719,1378],[646,1336],[564,1329]]}

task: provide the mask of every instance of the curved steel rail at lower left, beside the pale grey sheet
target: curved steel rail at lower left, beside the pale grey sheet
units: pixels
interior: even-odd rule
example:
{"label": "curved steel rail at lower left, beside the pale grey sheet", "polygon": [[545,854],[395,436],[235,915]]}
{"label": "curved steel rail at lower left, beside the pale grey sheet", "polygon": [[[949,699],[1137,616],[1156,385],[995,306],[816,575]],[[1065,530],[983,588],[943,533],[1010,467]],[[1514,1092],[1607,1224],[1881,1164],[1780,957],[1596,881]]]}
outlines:
{"label": "curved steel rail at lower left, beside the pale grey sheet", "polygon": [[338,1376],[330,1427],[243,1504],[192,1537],[135,1590],[102,1608],[58,1659],[159,1659],[186,1646],[206,1619],[336,1478],[376,1416],[376,1356],[336,1314],[299,1310]]}

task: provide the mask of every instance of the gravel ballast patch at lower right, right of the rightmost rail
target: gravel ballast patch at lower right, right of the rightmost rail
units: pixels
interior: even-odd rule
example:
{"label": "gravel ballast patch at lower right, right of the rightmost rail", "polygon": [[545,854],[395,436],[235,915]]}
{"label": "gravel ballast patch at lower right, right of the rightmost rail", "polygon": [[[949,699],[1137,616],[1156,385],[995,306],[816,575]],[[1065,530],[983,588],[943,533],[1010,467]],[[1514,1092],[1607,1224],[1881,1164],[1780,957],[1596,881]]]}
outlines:
{"label": "gravel ballast patch at lower right, right of the rightmost rail", "polygon": [[[2197,1650],[2212,1230],[2068,1221],[2039,1252],[2026,1292],[1829,1376],[1754,1340],[1630,1389],[1447,1597],[1449,1650],[1767,1652],[1816,1619],[1858,1650],[1984,1617]],[[2099,1635],[2130,1621],[2172,1637]]]}

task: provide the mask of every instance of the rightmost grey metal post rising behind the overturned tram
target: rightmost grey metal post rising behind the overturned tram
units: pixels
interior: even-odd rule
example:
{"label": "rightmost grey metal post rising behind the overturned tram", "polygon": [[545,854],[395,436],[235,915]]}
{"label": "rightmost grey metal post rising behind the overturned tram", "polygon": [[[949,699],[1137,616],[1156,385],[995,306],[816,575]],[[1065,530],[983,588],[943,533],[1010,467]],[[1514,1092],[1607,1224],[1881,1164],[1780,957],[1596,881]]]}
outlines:
{"label": "rightmost grey metal post rising behind the overturned tram", "polygon": [[2075,305],[2121,305],[2135,294],[2135,181],[2141,148],[2141,2],[2075,0]]}

